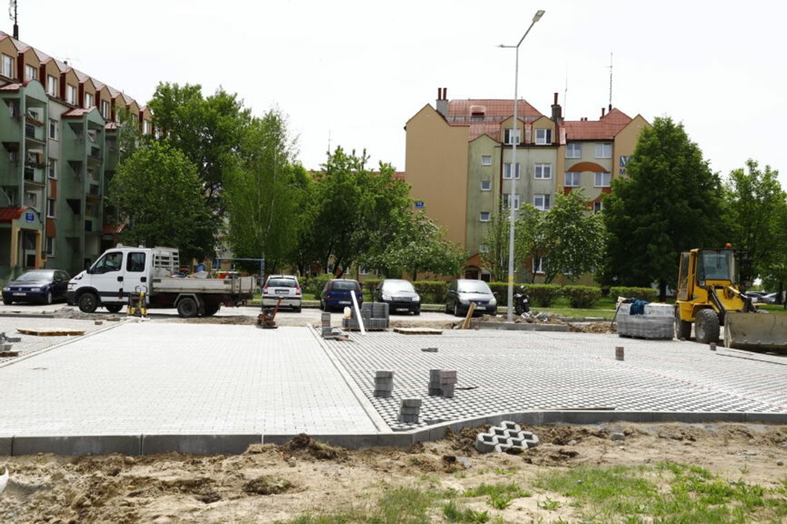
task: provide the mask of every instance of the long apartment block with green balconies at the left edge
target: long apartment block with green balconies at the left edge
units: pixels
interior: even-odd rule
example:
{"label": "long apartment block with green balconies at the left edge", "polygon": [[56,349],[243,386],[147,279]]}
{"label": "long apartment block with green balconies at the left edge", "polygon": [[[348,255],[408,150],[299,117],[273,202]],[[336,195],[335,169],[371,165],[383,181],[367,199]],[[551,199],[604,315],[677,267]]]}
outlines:
{"label": "long apartment block with green balconies at the left edge", "polygon": [[149,109],[0,31],[0,282],[75,274],[116,243],[104,197],[121,114],[152,132]]}

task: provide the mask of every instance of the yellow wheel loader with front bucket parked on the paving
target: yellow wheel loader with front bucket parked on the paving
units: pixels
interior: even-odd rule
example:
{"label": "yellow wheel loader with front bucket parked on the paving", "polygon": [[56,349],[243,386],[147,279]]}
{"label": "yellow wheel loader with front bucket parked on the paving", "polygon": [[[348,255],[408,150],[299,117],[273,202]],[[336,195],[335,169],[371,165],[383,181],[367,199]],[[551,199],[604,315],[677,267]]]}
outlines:
{"label": "yellow wheel loader with front bucket parked on the paving", "polygon": [[692,249],[681,253],[675,301],[675,338],[719,341],[724,327],[727,348],[787,351],[787,315],[758,311],[737,285],[735,252]]}

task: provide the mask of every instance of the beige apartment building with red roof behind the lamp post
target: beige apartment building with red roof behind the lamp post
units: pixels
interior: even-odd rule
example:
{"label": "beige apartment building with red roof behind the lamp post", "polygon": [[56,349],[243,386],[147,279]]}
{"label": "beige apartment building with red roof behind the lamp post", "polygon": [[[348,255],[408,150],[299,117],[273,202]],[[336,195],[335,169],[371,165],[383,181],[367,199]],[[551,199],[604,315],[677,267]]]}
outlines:
{"label": "beige apartment building with red roof behind the lamp post", "polygon": [[[598,120],[563,120],[557,94],[549,116],[527,101],[518,104],[515,122],[513,100],[449,100],[440,88],[434,107],[424,105],[405,125],[411,196],[470,253],[467,278],[490,279],[483,241],[490,220],[501,211],[507,216],[509,203],[549,212],[556,194],[582,188],[589,212],[602,211],[611,179],[626,174],[639,133],[649,125],[611,107],[601,109]],[[542,263],[529,261],[537,277]],[[523,279],[523,268],[516,272]]]}

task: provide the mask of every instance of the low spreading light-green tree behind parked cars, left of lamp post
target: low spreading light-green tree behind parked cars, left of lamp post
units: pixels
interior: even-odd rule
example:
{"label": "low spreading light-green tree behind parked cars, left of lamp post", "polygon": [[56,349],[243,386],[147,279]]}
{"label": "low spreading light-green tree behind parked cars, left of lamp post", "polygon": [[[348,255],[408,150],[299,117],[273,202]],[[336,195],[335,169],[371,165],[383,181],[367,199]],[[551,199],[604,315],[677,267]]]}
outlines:
{"label": "low spreading light-green tree behind parked cars, left of lamp post", "polygon": [[[393,226],[394,223],[390,223]],[[467,253],[445,239],[443,231],[423,212],[407,211],[393,226],[392,235],[363,256],[365,267],[377,269],[386,276],[406,272],[412,280],[420,272],[435,275],[456,275],[467,259]]]}

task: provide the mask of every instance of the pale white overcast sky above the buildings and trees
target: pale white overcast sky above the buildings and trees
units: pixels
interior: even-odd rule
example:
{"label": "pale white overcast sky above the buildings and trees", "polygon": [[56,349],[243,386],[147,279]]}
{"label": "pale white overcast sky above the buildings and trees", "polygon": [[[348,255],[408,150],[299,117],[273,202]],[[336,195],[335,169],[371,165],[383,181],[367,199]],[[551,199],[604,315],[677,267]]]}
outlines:
{"label": "pale white overcast sky above the buildings and trees", "polygon": [[497,44],[518,42],[545,9],[519,57],[519,96],[541,113],[557,91],[567,119],[596,120],[612,53],[612,105],[682,121],[722,175],[752,157],[787,188],[787,2],[18,2],[23,42],[140,103],[161,81],[206,95],[221,85],[254,113],[289,115],[306,168],[319,168],[330,137],[400,171],[405,123],[438,87],[513,98],[514,51]]}

